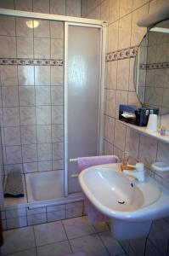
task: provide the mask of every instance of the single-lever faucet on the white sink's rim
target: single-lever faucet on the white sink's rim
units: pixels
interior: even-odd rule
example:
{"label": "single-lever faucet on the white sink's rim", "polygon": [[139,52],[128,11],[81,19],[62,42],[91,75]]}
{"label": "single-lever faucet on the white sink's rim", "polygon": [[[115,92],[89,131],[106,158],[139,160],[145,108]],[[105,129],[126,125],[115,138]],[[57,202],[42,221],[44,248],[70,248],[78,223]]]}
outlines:
{"label": "single-lever faucet on the white sink's rim", "polygon": [[136,171],[128,171],[128,170],[123,170],[122,172],[136,177],[138,179],[139,182],[144,182],[144,164],[143,163],[137,163],[135,166],[132,165],[127,165],[128,167],[132,167],[135,168]]}

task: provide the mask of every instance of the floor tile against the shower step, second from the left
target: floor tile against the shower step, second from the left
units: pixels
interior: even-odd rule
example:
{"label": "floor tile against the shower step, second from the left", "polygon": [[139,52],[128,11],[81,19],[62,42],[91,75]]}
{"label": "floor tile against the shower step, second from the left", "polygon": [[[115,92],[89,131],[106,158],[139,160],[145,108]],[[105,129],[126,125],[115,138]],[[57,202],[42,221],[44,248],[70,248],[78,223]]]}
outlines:
{"label": "floor tile against the shower step, second from the left", "polygon": [[65,230],[60,221],[34,226],[37,246],[67,240]]}

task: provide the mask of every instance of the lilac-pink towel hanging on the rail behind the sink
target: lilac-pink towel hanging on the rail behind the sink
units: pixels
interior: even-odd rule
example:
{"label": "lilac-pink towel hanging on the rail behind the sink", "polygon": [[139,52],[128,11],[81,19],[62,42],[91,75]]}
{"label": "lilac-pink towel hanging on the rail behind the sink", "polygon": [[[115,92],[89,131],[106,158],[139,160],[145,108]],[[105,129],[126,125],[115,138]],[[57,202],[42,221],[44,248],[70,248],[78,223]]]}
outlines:
{"label": "lilac-pink towel hanging on the rail behind the sink", "polygon": [[[90,166],[99,166],[104,164],[112,164],[119,162],[119,158],[115,155],[100,155],[100,156],[90,156],[90,157],[81,157],[77,159],[77,165],[79,167],[79,172],[90,167]],[[87,217],[91,222],[96,221],[108,221],[109,218],[99,212],[93,204],[87,199],[84,195],[84,205],[87,212]]]}

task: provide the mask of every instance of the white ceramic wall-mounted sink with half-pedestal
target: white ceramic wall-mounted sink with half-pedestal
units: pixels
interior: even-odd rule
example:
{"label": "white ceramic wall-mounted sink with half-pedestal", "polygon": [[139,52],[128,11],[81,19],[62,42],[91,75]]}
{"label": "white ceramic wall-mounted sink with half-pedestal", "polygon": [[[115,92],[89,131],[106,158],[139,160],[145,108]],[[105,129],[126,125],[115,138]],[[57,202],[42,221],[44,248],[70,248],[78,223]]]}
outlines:
{"label": "white ceramic wall-mounted sink with half-pedestal", "polygon": [[120,171],[120,164],[93,166],[79,175],[84,194],[110,217],[118,240],[144,237],[153,219],[169,215],[169,191],[145,175],[138,183]]}

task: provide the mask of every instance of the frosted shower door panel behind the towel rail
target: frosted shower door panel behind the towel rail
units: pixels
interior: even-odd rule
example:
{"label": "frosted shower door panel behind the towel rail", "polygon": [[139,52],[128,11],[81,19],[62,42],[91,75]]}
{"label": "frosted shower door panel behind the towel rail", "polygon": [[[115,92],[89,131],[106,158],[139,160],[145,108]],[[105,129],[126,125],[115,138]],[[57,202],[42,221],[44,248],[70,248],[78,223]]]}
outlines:
{"label": "frosted shower door panel behind the towel rail", "polygon": [[99,152],[100,28],[68,25],[67,169],[69,193],[80,191],[76,162]]}

